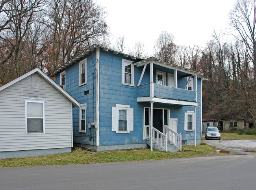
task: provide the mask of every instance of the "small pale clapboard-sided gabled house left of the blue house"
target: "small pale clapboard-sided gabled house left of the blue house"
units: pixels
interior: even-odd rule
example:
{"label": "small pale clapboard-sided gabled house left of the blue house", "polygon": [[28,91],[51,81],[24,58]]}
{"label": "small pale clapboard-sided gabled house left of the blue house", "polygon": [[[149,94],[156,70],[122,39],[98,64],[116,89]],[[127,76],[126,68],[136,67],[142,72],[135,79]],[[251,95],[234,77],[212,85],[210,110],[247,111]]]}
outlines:
{"label": "small pale clapboard-sided gabled house left of the blue house", "polygon": [[0,87],[0,159],[70,152],[79,105],[39,68]]}

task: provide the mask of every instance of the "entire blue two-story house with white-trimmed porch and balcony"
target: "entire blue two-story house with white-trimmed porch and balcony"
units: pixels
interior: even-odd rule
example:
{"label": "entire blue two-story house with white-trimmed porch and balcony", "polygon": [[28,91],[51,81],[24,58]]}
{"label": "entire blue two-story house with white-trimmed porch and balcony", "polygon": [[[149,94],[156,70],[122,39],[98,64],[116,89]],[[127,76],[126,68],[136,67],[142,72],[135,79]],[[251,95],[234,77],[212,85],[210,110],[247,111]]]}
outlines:
{"label": "entire blue two-story house with white-trimmed porch and balcony", "polygon": [[50,76],[80,102],[74,145],[96,150],[200,144],[202,74],[93,45]]}

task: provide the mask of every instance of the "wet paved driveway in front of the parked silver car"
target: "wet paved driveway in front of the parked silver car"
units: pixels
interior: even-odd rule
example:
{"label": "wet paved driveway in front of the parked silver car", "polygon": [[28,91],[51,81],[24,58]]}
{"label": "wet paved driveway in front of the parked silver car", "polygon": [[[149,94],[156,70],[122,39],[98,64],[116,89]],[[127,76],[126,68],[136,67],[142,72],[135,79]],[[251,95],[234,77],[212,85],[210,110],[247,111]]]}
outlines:
{"label": "wet paved driveway in front of the parked silver car", "polygon": [[204,137],[203,140],[211,146],[230,151],[230,153],[255,154],[256,152],[256,140],[206,140]]}

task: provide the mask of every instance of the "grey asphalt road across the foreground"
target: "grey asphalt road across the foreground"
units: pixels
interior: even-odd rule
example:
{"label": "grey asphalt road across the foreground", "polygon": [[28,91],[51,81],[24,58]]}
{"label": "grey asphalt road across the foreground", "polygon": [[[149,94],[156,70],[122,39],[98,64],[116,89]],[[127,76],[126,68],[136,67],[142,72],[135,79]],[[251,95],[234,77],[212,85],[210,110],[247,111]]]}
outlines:
{"label": "grey asphalt road across the foreground", "polygon": [[0,189],[256,189],[256,155],[1,168]]}

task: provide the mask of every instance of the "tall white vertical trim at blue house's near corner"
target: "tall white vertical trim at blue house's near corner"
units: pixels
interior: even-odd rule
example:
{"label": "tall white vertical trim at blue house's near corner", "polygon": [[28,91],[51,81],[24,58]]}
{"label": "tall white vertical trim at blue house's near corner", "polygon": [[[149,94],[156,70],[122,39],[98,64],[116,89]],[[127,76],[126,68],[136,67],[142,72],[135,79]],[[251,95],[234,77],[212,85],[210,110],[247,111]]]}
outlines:
{"label": "tall white vertical trim at blue house's near corner", "polygon": [[96,124],[95,145],[99,146],[100,48],[96,48]]}

